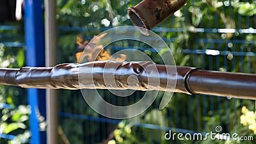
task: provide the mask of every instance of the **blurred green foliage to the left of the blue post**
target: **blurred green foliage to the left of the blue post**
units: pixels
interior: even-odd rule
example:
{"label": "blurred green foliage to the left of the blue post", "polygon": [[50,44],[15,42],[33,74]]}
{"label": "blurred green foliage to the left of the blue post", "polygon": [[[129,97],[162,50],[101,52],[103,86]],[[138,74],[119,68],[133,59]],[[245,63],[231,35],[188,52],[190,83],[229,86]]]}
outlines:
{"label": "blurred green foliage to the left of the blue post", "polygon": [[[20,23],[17,22],[13,26],[19,27]],[[24,42],[24,36],[20,35],[24,35],[20,29],[0,30],[0,67],[20,68],[24,66],[24,47],[4,45],[4,42],[13,42],[13,45]],[[30,109],[26,106],[25,90],[15,86],[0,85],[0,103],[0,134],[15,136],[13,140],[0,138],[0,143],[28,143],[31,136],[28,131]]]}

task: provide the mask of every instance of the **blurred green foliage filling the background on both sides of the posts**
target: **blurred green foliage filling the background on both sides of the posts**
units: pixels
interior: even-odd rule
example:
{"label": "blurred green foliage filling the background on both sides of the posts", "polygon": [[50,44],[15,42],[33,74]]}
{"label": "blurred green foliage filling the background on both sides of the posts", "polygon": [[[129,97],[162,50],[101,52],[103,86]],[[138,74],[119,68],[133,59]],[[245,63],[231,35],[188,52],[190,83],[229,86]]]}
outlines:
{"label": "blurred green foliage filling the background on both sides of the posts", "polygon": [[[104,29],[132,25],[127,17],[126,10],[128,7],[135,6],[139,2],[128,0],[57,0],[56,19],[58,19],[58,26],[74,28],[58,31],[59,63],[76,62],[75,54],[78,51],[76,36],[79,33],[83,33],[85,40],[90,40],[93,35],[99,34]],[[235,33],[218,32],[219,28],[248,29],[248,26],[255,26],[255,13],[255,1],[188,1],[188,4],[182,10],[179,10],[174,16],[169,17],[159,25],[161,28],[182,28],[183,31],[159,31],[157,34],[162,36],[169,45],[177,65],[256,74],[256,57],[253,55],[256,51],[256,45],[251,43],[256,40],[255,34],[240,33],[240,31]],[[207,29],[211,29],[212,32],[202,32]],[[10,32],[0,29],[0,34],[4,34],[0,36],[1,42],[10,40],[19,42],[22,41],[19,40],[22,39],[19,35],[24,33],[19,30]],[[220,40],[221,42],[214,42],[214,40]],[[236,44],[234,43],[235,40],[244,40],[245,42]],[[147,46],[136,42],[116,42],[113,45],[118,45],[119,47],[136,46],[141,47],[141,49],[147,48]],[[220,54],[218,56],[205,54],[207,49],[227,52],[227,54]],[[115,52],[111,48],[109,48],[109,51]],[[159,55],[148,50],[141,51],[148,54],[156,63],[161,63]],[[194,51],[194,53],[189,51]],[[24,52],[24,47],[16,49],[0,44],[1,67],[23,67],[25,62]],[[239,56],[236,52],[244,52],[244,56]],[[164,50],[161,54],[164,54]],[[111,93],[104,90],[99,90],[98,92],[103,93],[105,98],[111,95]],[[81,93],[78,91],[61,90],[60,93],[63,96],[60,99],[62,111],[101,118],[93,109],[86,105]],[[12,107],[12,109],[1,109],[0,133],[17,136],[13,141],[0,140],[0,143],[28,142],[30,137],[30,133],[27,131],[29,108],[25,106],[26,99],[24,97],[19,98],[22,95],[26,95],[26,92],[20,88],[0,86],[0,102],[10,104]],[[93,96],[94,94],[89,93],[89,95]],[[141,93],[137,93],[138,95],[141,95]],[[60,118],[60,121],[68,139],[72,143],[99,142],[100,140],[92,140],[93,138],[99,138],[99,133],[104,138],[111,136],[111,133],[113,133],[113,138],[110,139],[115,140],[116,143],[170,143],[170,141],[163,139],[166,131],[140,127],[138,124],[149,124],[165,128],[172,127],[173,129],[189,129],[200,132],[214,131],[216,125],[221,125],[226,128],[225,132],[237,132],[241,136],[255,137],[248,127],[244,127],[239,122],[241,106],[245,105],[252,109],[255,105],[250,100],[227,100],[220,97],[188,96],[174,93],[172,101],[168,106],[163,111],[159,111],[156,108],[158,108],[157,106],[162,95],[163,93],[159,92],[156,102],[145,113],[136,116],[132,120],[124,120],[118,125],[103,124],[90,120],[90,118],[89,120]],[[118,102],[118,100],[113,97],[109,98],[109,101]],[[134,101],[136,100],[134,99]],[[123,104],[125,100],[120,100],[120,102]],[[132,100],[130,102],[132,103]],[[195,143],[195,141],[172,142]],[[199,141],[199,143],[236,142]],[[248,141],[248,143],[250,142],[252,141]]]}

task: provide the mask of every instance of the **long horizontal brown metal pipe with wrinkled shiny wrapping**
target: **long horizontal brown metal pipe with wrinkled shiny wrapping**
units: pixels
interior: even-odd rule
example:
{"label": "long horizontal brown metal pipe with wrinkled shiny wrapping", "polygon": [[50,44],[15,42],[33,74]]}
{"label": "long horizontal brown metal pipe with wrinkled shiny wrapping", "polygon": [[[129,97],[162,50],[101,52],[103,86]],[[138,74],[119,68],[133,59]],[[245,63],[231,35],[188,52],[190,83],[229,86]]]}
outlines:
{"label": "long horizontal brown metal pipe with wrinkled shiny wrapping", "polygon": [[[116,84],[105,83],[104,74],[108,77],[115,77]],[[137,77],[138,83],[132,79],[129,83],[127,81],[129,76]],[[148,78],[159,79],[159,83],[148,83]],[[168,86],[168,81],[176,81],[176,86]],[[255,74],[156,65],[149,61],[94,61],[83,64],[66,63],[46,68],[0,68],[0,84],[23,88],[63,88],[70,90],[82,88],[162,90],[256,99]]]}

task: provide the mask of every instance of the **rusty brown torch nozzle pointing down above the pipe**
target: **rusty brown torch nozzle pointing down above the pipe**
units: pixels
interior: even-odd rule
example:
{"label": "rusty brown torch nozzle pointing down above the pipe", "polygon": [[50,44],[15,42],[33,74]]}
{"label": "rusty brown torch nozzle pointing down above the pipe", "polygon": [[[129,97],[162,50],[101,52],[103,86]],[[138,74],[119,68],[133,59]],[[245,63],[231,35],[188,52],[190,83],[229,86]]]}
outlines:
{"label": "rusty brown torch nozzle pointing down above the pipe", "polygon": [[128,8],[128,15],[143,35],[149,35],[147,29],[153,29],[186,3],[186,0],[143,0],[136,6]]}

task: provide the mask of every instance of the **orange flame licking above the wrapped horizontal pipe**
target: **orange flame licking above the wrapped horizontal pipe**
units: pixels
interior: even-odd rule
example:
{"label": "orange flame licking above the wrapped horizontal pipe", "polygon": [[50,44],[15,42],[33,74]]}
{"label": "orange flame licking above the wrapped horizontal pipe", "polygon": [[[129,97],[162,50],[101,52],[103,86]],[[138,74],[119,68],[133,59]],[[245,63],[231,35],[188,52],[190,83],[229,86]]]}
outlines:
{"label": "orange flame licking above the wrapped horizontal pipe", "polygon": [[97,45],[107,33],[104,33],[100,36],[93,36],[92,41],[89,43],[87,40],[84,40],[82,35],[77,35],[76,44],[78,49],[84,50],[83,52],[76,53],[77,63],[80,63],[87,59],[87,61],[103,61],[103,60],[112,60],[112,61],[125,61],[127,56],[125,54],[120,54],[118,58],[111,57],[108,51],[104,49],[103,45]]}

